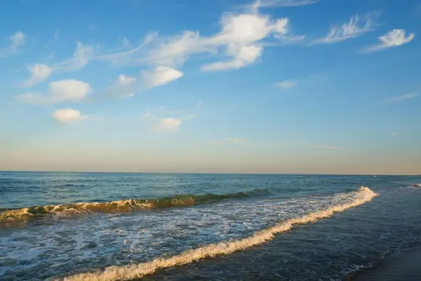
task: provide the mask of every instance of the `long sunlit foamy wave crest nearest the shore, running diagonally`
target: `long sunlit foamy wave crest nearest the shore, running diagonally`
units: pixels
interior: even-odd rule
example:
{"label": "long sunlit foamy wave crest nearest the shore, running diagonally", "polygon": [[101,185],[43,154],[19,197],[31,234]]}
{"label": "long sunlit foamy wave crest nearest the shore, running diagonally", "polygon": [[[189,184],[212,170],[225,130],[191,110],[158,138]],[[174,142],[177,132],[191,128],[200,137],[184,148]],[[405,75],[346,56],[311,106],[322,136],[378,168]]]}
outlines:
{"label": "long sunlit foamy wave crest nearest the shore, running diagonally", "polygon": [[48,280],[63,280],[63,281],[112,281],[112,280],[131,280],[140,278],[145,275],[153,274],[156,270],[161,268],[169,268],[173,266],[181,266],[187,263],[192,263],[207,257],[218,255],[231,254],[234,251],[239,251],[258,244],[262,244],[274,238],[275,233],[283,233],[295,224],[309,223],[316,221],[319,218],[327,218],[335,212],[344,211],[352,207],[359,206],[373,199],[377,196],[375,192],[366,187],[361,187],[359,190],[345,193],[346,202],[342,204],[335,204],[326,209],[321,209],[298,218],[291,218],[287,221],[281,221],[276,225],[260,230],[250,237],[239,240],[232,240],[227,242],[218,242],[209,244],[197,249],[190,249],[181,254],[172,256],[170,258],[157,258],[146,263],[132,264],[127,266],[109,266],[105,270],[98,270],[91,273],[79,273],[69,275],[67,277],[51,277]]}

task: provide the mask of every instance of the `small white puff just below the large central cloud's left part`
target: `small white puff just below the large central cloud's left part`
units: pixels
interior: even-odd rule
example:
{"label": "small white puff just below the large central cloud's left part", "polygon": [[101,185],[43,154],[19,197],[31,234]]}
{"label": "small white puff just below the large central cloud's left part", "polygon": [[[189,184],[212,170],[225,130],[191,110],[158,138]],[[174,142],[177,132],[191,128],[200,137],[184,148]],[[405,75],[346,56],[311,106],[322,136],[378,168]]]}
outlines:
{"label": "small white puff just below the large central cloud's left part", "polygon": [[143,84],[147,89],[167,84],[175,79],[179,79],[182,75],[182,72],[168,66],[159,66],[152,71],[144,71],[142,73]]}

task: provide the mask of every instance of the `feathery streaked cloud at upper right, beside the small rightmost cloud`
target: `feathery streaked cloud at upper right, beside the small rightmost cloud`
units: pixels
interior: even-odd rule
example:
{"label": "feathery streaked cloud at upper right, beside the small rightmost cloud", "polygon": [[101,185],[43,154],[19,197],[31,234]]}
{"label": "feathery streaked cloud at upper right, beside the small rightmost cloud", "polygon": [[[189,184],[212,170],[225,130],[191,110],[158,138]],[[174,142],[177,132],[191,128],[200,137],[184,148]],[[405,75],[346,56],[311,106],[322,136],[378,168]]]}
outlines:
{"label": "feathery streaked cloud at upper right, beside the small rightmost cloud", "polygon": [[330,27],[326,37],[317,39],[313,44],[333,44],[346,39],[359,37],[361,34],[375,30],[373,15],[367,15],[360,20],[359,15],[351,17],[349,22]]}

